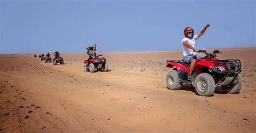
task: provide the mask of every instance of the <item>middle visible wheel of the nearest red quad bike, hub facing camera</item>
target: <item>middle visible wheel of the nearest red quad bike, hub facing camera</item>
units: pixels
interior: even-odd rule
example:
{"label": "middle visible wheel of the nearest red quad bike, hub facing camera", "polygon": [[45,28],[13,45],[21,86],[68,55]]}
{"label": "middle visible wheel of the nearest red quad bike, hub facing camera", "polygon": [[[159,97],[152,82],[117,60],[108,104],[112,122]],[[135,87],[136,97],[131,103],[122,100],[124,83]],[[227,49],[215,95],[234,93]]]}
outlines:
{"label": "middle visible wheel of the nearest red quad bike, hub facing camera", "polygon": [[195,87],[199,95],[211,96],[215,91],[215,82],[210,74],[201,73],[196,78]]}

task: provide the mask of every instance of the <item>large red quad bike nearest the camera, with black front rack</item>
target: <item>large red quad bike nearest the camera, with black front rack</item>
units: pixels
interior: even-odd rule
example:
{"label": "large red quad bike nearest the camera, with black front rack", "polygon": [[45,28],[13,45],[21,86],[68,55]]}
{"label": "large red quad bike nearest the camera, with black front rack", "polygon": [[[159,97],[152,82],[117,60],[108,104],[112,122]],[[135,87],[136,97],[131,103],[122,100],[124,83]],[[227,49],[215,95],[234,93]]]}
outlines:
{"label": "large red quad bike nearest the camera, with black front rack", "polygon": [[188,83],[196,88],[199,95],[211,96],[215,86],[220,85],[226,93],[239,93],[242,87],[242,80],[238,75],[241,72],[240,60],[219,60],[216,55],[220,53],[219,50],[214,50],[213,53],[199,50],[199,53],[205,53],[206,56],[194,65],[191,80],[188,80],[190,64],[167,61],[166,67],[173,68],[166,76],[167,87],[170,90],[180,90],[184,83]]}

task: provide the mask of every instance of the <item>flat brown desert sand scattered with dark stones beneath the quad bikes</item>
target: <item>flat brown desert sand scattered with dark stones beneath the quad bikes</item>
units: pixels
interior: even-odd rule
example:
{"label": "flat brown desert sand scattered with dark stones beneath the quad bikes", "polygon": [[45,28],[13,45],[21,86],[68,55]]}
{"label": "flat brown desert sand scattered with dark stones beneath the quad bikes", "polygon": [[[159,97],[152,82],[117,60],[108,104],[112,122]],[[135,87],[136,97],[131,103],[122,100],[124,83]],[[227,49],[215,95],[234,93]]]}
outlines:
{"label": "flat brown desert sand scattered with dark stones beneath the quad bikes", "polygon": [[242,62],[239,94],[169,90],[165,61],[181,50],[97,52],[110,71],[95,73],[83,71],[86,53],[60,51],[63,65],[1,54],[0,132],[256,132],[256,48],[219,50]]}

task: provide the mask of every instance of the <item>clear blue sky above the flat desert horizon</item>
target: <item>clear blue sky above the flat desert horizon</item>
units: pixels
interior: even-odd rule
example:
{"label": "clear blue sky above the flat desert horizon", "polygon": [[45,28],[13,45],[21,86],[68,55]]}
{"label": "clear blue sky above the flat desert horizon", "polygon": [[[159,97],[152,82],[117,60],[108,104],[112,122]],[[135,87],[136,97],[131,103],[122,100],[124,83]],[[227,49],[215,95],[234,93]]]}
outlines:
{"label": "clear blue sky above the flat desert horizon", "polygon": [[255,1],[0,0],[0,53],[182,49],[187,26],[211,27],[196,48],[255,47]]}

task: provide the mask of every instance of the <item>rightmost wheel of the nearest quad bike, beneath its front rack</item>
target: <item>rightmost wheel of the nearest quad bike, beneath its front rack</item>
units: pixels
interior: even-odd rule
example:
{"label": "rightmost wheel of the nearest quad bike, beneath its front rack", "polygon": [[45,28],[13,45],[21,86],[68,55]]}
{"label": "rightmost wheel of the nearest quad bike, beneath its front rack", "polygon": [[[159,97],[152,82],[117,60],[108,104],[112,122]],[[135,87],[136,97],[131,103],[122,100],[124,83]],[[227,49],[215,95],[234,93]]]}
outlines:
{"label": "rightmost wheel of the nearest quad bike, beneath its front rack", "polygon": [[242,88],[242,79],[238,75],[228,86],[221,86],[224,92],[237,94]]}

